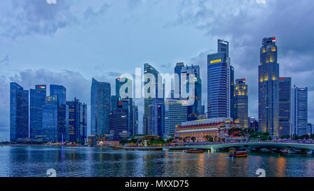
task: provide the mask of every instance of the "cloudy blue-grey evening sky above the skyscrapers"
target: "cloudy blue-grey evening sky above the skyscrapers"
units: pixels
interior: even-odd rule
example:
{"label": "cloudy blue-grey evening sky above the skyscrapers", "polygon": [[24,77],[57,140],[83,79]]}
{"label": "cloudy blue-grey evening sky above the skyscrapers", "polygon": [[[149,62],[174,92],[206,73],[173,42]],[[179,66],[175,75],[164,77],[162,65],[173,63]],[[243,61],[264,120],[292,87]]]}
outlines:
{"label": "cloudy blue-grey evening sky above the skyscrapers", "polygon": [[[64,85],[68,101],[90,104],[92,77],[112,83],[113,93],[121,73],[144,63],[173,73],[184,62],[200,65],[206,102],[207,54],[218,38],[230,42],[235,78],[247,79],[249,115],[257,117],[262,38],[276,36],[280,76],[309,88],[314,122],[313,10],[308,0],[1,0],[0,141],[9,139],[10,82]],[[136,102],[142,126],[144,101]]]}

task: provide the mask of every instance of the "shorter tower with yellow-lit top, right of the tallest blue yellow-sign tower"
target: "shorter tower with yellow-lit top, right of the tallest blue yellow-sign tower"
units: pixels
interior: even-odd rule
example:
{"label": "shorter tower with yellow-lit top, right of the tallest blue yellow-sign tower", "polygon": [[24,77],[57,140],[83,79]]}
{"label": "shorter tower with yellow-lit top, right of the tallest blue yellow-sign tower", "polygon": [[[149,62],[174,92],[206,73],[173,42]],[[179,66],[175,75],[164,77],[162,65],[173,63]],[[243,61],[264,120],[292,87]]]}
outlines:
{"label": "shorter tower with yellow-lit top, right of the tallest blue yellow-sign tower", "polygon": [[248,85],[246,79],[237,79],[234,90],[234,120],[239,120],[241,128],[248,127]]}

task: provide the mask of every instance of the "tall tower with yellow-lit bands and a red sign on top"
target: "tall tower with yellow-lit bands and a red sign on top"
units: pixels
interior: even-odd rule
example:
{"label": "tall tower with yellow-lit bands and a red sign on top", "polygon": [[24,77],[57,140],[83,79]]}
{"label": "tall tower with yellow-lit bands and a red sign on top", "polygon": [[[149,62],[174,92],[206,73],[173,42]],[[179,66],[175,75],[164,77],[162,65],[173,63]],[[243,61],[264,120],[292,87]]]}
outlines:
{"label": "tall tower with yellow-lit bands and a red sign on top", "polygon": [[279,64],[276,38],[264,38],[258,66],[258,120],[262,132],[278,137]]}

